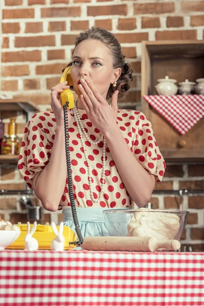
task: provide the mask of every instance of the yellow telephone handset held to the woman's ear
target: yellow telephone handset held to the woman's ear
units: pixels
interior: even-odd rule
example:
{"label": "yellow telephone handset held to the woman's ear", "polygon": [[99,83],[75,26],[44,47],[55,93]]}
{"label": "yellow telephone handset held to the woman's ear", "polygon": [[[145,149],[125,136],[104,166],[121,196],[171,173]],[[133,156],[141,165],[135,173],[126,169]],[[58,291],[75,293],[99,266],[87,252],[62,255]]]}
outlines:
{"label": "yellow telephone handset held to the woman's ear", "polygon": [[[62,77],[60,79],[60,83],[67,81],[68,86],[73,86],[73,82],[71,79],[71,66],[64,69]],[[66,102],[69,102],[69,109],[74,107],[74,97],[73,93],[70,89],[64,89],[60,94],[61,105],[64,106]]]}

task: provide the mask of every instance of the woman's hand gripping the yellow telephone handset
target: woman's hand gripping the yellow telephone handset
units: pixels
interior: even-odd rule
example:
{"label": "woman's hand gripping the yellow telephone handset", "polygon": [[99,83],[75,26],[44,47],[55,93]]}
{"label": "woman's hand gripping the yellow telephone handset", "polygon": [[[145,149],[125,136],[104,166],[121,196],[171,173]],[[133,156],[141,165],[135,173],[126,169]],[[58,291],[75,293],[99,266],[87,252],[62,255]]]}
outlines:
{"label": "woman's hand gripping the yellow telephone handset", "polygon": [[[57,121],[57,125],[62,125],[64,126],[64,113],[63,113],[63,108],[61,106],[61,102],[60,102],[60,93],[64,90],[64,89],[69,89],[69,86],[66,85],[67,81],[63,82],[63,83],[59,83],[56,86],[51,88],[51,107],[53,109],[56,121]],[[70,121],[71,115],[70,115],[70,111],[69,109],[67,109],[68,111],[68,120]]]}

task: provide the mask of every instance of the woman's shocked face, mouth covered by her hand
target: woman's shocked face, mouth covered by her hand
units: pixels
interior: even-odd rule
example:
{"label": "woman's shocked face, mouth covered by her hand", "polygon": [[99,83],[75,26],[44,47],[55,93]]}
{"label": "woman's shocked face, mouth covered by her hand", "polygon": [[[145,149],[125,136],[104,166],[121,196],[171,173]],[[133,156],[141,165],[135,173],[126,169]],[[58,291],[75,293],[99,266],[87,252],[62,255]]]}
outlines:
{"label": "woman's shocked face, mouth covered by her hand", "polygon": [[90,80],[106,99],[110,84],[117,81],[121,69],[113,69],[109,48],[95,39],[82,41],[74,50],[71,66],[71,78],[75,93],[79,96],[80,79]]}

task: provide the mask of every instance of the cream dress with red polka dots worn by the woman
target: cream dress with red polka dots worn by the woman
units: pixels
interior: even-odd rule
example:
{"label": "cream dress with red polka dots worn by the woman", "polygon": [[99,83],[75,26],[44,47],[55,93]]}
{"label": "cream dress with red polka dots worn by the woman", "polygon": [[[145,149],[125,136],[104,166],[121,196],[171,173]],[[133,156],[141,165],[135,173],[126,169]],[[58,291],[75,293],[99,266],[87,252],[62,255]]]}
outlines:
{"label": "cream dress with red polka dots worn by the woman", "polygon": [[[86,111],[79,110],[79,114],[89,137],[93,141],[98,140],[101,133],[90,122]],[[156,182],[160,182],[164,175],[166,164],[155,140],[151,123],[141,112],[118,110],[117,124],[132,154],[134,154],[135,158],[147,172],[155,175]],[[55,141],[55,129],[56,119],[53,112],[39,112],[35,114],[25,126],[18,161],[18,170],[31,189],[33,189],[33,177],[37,172],[45,168],[52,155],[52,148]],[[133,200],[121,181],[121,177],[108,147],[106,148],[104,195],[100,202],[92,202],[88,184],[87,162],[85,161],[77,122],[74,119],[72,110],[69,135],[75,205],[77,207],[92,208],[131,207]],[[101,190],[103,142],[93,145],[85,139],[84,136],[85,147],[92,172],[93,197],[97,199]],[[70,206],[68,179],[66,179],[64,193],[58,209],[62,209],[63,206]]]}

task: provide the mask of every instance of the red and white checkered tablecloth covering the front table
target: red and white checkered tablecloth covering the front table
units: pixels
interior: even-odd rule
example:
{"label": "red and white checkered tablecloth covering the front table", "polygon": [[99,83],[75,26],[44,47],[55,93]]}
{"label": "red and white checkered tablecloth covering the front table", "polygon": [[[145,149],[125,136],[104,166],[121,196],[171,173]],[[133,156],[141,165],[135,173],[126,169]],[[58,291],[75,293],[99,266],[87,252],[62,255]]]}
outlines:
{"label": "red and white checkered tablecloth covering the front table", "polygon": [[204,305],[202,252],[0,251],[4,306]]}

